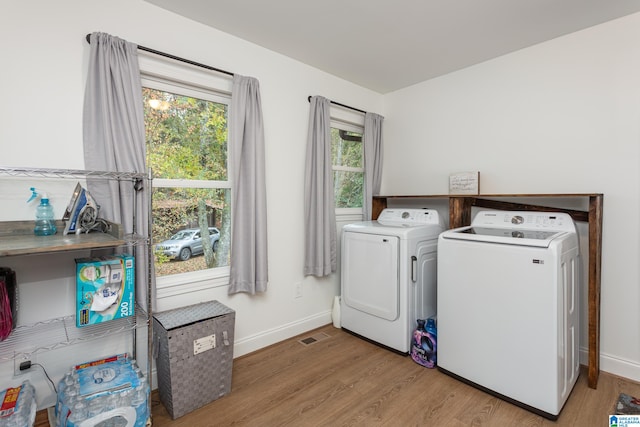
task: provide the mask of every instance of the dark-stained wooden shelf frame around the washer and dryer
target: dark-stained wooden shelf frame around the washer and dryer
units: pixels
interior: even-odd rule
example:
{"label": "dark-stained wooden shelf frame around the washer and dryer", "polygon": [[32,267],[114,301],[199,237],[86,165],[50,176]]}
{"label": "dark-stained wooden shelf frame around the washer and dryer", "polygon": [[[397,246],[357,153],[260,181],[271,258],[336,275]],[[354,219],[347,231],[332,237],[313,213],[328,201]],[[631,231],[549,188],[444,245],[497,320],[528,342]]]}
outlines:
{"label": "dark-stained wooden shelf frame around the washer and dryer", "polygon": [[[471,209],[551,211],[566,212],[574,221],[586,222],[589,226],[589,277],[588,277],[588,384],[597,388],[600,374],[600,282],[602,276],[602,215],[604,195],[602,193],[564,194],[478,194],[478,195],[390,195],[373,196],[371,219],[378,215],[390,200],[444,199],[449,202],[449,227],[457,228],[471,224]],[[545,200],[583,200],[586,210],[542,206]],[[522,202],[524,200],[525,202]]]}

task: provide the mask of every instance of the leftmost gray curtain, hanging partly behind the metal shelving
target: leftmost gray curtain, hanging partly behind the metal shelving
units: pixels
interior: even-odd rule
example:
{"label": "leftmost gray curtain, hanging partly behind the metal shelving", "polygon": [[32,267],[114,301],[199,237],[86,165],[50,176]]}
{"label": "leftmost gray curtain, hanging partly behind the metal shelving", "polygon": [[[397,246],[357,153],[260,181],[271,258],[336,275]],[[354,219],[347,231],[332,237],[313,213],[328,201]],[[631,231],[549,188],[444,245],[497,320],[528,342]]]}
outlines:
{"label": "leftmost gray curtain, hanging partly behind the metal shelving", "polygon": [[[104,33],[91,34],[89,72],[84,98],[85,168],[110,172],[142,172],[145,167],[144,110],[135,44]],[[100,205],[100,217],[122,224],[125,233],[149,233],[147,194],[132,181],[88,179]],[[149,254],[136,256],[136,298],[146,307]]]}

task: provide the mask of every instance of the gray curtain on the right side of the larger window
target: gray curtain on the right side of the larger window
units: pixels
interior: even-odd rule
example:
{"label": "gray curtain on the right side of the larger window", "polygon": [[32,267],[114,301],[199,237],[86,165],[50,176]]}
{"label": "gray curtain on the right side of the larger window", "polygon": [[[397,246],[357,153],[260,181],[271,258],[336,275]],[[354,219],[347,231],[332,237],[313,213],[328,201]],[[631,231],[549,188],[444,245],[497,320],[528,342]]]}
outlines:
{"label": "gray curtain on the right side of the larger window", "polygon": [[267,290],[267,198],[260,85],[235,75],[229,115],[233,167],[229,294]]}

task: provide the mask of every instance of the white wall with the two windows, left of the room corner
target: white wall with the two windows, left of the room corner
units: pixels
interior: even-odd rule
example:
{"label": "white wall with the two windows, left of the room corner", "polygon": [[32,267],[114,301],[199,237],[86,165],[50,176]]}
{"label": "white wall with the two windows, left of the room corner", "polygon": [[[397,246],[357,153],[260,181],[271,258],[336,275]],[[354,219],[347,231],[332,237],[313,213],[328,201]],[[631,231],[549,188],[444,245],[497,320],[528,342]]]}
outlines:
{"label": "white wall with the two windows, left of the room corner", "polygon": [[[315,279],[302,274],[307,97],[323,95],[380,111],[381,95],[142,0],[5,3],[0,16],[0,93],[4,99],[0,104],[0,163],[6,166],[84,167],[82,105],[89,52],[85,35],[93,31],[256,77],[266,139],[269,289],[262,295],[232,297],[227,296],[226,286],[182,296],[165,293],[160,295],[158,308],[209,299],[232,307],[236,310],[236,356],[331,322],[333,297],[339,293],[337,276]],[[71,190],[57,194],[61,201],[54,207],[59,216],[70,195]],[[32,215],[24,208],[28,197],[26,192],[24,198],[11,199],[16,209],[28,215],[23,219]],[[8,216],[0,213],[0,220],[15,219]],[[9,261],[12,265],[20,262]],[[68,268],[71,272],[75,268],[72,259]],[[64,267],[57,266],[59,270]],[[38,277],[28,277],[33,283],[25,284],[25,289],[42,284]],[[42,288],[42,293],[30,292],[33,298],[24,301],[19,316],[22,323],[73,311],[73,280],[60,278],[59,282],[53,287],[59,300],[55,303],[50,302],[51,295],[44,297]],[[302,282],[303,296],[294,298],[298,282]],[[58,359],[61,353],[64,351],[56,351]],[[89,357],[94,355],[87,353],[85,360]],[[0,361],[0,384],[11,380],[7,371],[13,371],[12,362]],[[51,374],[55,378],[61,372]],[[42,384],[41,390],[46,391]]]}

